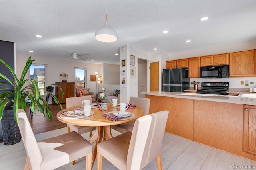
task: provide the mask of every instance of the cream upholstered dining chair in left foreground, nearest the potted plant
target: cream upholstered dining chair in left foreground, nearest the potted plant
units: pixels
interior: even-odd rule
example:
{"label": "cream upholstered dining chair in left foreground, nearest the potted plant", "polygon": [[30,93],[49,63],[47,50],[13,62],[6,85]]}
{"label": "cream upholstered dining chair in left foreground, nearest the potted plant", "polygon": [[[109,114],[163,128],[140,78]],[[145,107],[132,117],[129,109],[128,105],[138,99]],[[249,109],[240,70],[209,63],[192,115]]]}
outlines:
{"label": "cream upholstered dining chair in left foreground, nearest the potted plant", "polygon": [[23,109],[17,110],[18,125],[27,158],[25,170],[52,170],[86,156],[86,170],[92,168],[92,145],[76,132],[37,142]]}

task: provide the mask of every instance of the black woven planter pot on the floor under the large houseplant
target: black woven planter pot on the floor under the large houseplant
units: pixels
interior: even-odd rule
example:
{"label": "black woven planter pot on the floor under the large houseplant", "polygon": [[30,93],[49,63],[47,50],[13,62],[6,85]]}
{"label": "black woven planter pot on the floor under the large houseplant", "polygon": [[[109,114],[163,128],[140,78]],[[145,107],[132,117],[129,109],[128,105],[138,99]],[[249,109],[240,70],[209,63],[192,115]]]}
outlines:
{"label": "black woven planter pot on the floor under the large houseplant", "polygon": [[20,129],[15,122],[13,109],[5,109],[1,120],[4,145],[20,142]]}

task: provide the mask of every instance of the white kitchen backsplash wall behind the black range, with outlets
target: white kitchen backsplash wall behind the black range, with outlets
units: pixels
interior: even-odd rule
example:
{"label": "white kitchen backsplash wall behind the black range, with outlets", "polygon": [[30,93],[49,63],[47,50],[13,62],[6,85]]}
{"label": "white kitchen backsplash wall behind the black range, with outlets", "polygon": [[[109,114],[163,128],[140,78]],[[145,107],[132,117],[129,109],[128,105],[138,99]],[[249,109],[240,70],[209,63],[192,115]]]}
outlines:
{"label": "white kitchen backsplash wall behind the black range, with outlets", "polygon": [[[190,78],[190,82],[200,82],[198,87],[201,87],[201,82],[229,82],[230,88],[250,88],[256,87],[256,77],[239,77],[239,78]],[[243,82],[243,84],[241,84]],[[253,84],[251,84],[253,82]],[[248,83],[248,86],[246,84]],[[190,87],[194,84],[190,83]]]}

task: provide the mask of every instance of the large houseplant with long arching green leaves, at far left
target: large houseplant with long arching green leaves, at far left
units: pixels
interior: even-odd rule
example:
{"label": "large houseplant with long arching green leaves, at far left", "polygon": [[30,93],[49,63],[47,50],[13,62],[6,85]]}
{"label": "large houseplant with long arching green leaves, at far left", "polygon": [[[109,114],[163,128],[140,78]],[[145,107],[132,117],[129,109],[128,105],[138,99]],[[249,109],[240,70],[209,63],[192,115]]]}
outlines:
{"label": "large houseplant with long arching green leaves, at far left", "polygon": [[[33,113],[36,113],[36,108],[42,113],[44,117],[48,117],[50,122],[52,121],[52,115],[50,112],[50,108],[48,106],[48,102],[42,98],[40,95],[40,91],[38,88],[38,83],[35,80],[26,79],[25,76],[33,63],[31,56],[28,58],[26,65],[21,73],[20,80],[18,80],[14,70],[12,67],[5,63],[4,60],[0,59],[0,62],[3,63],[14,76],[15,82],[12,82],[8,77],[4,74],[0,73],[0,84],[7,84],[10,88],[0,88],[0,120],[3,117],[3,111],[8,102],[13,102],[13,113],[14,119],[17,123],[17,109],[26,109],[26,107],[30,107]],[[30,84],[27,85],[30,81]],[[51,84],[56,86],[55,84]],[[60,87],[58,87],[60,88]],[[61,88],[60,88],[61,89]],[[62,98],[63,98],[63,91]],[[51,92],[45,91],[45,93],[50,94],[53,97],[56,104],[58,104],[59,109],[62,109],[62,106],[56,96],[54,96]],[[30,100],[30,103],[26,103],[26,100]],[[40,103],[42,102],[42,104]],[[44,105],[44,106],[43,106]],[[44,109],[45,108],[45,109]]]}

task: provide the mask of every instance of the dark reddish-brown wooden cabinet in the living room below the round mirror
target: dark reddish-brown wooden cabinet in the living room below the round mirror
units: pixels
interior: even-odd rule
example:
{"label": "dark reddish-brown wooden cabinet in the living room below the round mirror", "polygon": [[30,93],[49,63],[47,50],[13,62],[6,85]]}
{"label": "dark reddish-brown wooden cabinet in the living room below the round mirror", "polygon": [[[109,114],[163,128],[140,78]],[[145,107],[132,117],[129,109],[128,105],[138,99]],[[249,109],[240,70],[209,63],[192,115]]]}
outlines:
{"label": "dark reddish-brown wooden cabinet in the living room below the round mirror", "polygon": [[66,103],[66,98],[75,97],[75,83],[74,82],[55,82],[56,85],[60,86],[64,92],[63,100],[60,88],[55,88],[55,95],[59,99],[60,103]]}

